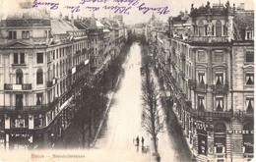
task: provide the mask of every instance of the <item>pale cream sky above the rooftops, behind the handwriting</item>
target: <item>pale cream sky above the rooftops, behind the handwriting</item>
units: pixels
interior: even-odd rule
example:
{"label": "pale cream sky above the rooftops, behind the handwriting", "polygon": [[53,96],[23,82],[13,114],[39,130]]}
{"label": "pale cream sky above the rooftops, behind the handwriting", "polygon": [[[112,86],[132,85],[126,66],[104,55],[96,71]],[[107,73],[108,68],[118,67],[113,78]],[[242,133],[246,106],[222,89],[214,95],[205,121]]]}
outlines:
{"label": "pale cream sky above the rooftops, behind the handwriting", "polygon": [[[97,11],[95,11],[96,18],[100,17],[113,17],[114,11],[111,10],[105,10],[102,9],[103,6],[119,6],[119,7],[126,7],[128,9],[130,6],[131,8],[127,10],[127,14],[122,14],[124,18],[125,24],[137,24],[137,23],[145,23],[147,22],[151,17],[153,12],[148,11],[147,13],[143,14],[142,11],[139,11],[139,6],[143,3],[145,5],[143,7],[149,7],[149,8],[166,8],[168,9],[168,13],[166,14],[159,14],[155,12],[155,16],[159,18],[162,21],[167,21],[167,18],[169,16],[177,16],[180,11],[187,10],[190,12],[191,4],[194,4],[195,8],[198,8],[202,6],[203,4],[206,5],[207,1],[210,1],[211,5],[213,3],[226,3],[226,0],[132,0],[134,2],[134,6],[128,5],[128,2],[123,2],[118,5],[118,3],[113,1],[118,0],[96,0],[101,2],[95,2],[93,3],[93,0],[0,0],[0,16],[3,16],[4,14],[7,14],[9,12],[14,12],[16,8],[19,7],[20,1],[31,1],[32,3],[34,1],[37,2],[49,2],[49,3],[59,3],[59,6],[56,10],[50,10],[50,5],[38,5],[37,8],[46,8],[47,10],[50,10],[50,13],[53,17],[58,17],[60,12],[63,16],[69,15],[71,16],[71,9],[66,9],[66,6],[69,7],[77,7],[80,6],[79,12],[74,12],[73,15],[75,18],[77,18],[77,15],[80,17],[91,17],[92,11],[90,11],[87,7],[99,7]],[[82,5],[81,3],[85,1],[85,3]],[[91,2],[88,2],[91,1]],[[102,1],[106,1],[105,3]],[[119,0],[121,1],[121,0]],[[127,0],[122,0],[127,1]],[[131,1],[131,0],[128,0]],[[138,1],[138,4],[135,3],[135,1]],[[253,10],[254,9],[254,2],[253,0],[229,0],[230,6],[234,3],[235,6],[239,6],[240,3],[244,3],[246,10]]]}

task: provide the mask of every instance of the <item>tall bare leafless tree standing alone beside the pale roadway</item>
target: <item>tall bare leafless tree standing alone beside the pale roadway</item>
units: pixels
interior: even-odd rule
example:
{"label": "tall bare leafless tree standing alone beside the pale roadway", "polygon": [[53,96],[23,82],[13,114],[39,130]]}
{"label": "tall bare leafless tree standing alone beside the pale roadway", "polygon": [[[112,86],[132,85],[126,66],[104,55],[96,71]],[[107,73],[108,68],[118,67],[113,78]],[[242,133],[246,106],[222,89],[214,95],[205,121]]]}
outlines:
{"label": "tall bare leafless tree standing alone beside the pale roadway", "polygon": [[[147,71],[147,70],[146,70]],[[150,73],[146,73],[146,81],[142,83],[142,99],[144,111],[142,114],[142,127],[152,135],[155,147],[155,153],[158,155],[158,135],[163,131],[165,117],[160,114],[160,105],[158,104],[160,93],[157,84],[150,79]]]}

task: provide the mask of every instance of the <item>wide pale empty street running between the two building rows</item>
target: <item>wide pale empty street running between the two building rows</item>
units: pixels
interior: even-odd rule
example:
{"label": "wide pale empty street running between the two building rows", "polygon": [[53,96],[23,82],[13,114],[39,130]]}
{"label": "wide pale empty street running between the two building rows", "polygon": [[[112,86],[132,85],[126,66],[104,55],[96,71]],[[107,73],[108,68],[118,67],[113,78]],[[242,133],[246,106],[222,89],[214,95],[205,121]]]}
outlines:
{"label": "wide pale empty street running between the two building rows", "polygon": [[[141,127],[143,110],[141,99],[142,78],[140,75],[141,49],[138,43],[134,43],[131,46],[127,57],[123,65],[125,70],[124,78],[121,79],[119,87],[113,96],[103,135],[100,135],[97,139],[95,148],[96,152],[100,151],[100,157],[105,157],[104,160],[107,161],[151,161],[151,149],[153,149],[151,136]],[[156,78],[155,81],[157,81]],[[166,128],[164,131],[158,135],[161,161],[188,160],[186,155],[181,155],[182,150],[188,149],[180,148],[179,142],[174,141],[175,137],[169,136]],[[175,133],[171,135],[173,134]],[[137,135],[140,137],[139,147],[135,146]],[[141,149],[142,136],[145,138],[144,145],[150,147],[147,153],[142,152]],[[182,135],[174,136],[185,140]],[[103,156],[103,152],[108,156]],[[187,152],[187,156],[189,154]]]}

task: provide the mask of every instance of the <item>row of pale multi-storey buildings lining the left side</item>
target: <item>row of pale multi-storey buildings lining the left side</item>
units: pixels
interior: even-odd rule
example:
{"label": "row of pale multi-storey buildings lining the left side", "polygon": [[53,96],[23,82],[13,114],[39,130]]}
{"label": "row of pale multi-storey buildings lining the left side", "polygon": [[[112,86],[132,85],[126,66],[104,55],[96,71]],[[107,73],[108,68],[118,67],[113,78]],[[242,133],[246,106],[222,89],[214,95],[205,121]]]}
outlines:
{"label": "row of pale multi-storey buildings lining the left side", "polygon": [[51,147],[61,139],[82,106],[82,90],[99,80],[97,69],[112,53],[107,34],[94,16],[78,26],[73,16],[51,19],[27,2],[1,19],[1,148]]}

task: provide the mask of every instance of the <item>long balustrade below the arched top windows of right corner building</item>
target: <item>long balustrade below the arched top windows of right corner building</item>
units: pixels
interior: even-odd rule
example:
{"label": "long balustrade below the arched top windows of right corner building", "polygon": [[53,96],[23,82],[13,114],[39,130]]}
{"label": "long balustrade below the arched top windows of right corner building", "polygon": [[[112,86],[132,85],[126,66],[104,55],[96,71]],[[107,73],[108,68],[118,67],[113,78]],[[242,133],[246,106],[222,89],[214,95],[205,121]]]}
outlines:
{"label": "long balustrade below the arched top windows of right corner building", "polygon": [[190,41],[204,42],[204,43],[215,43],[215,42],[228,42],[228,36],[191,36]]}

